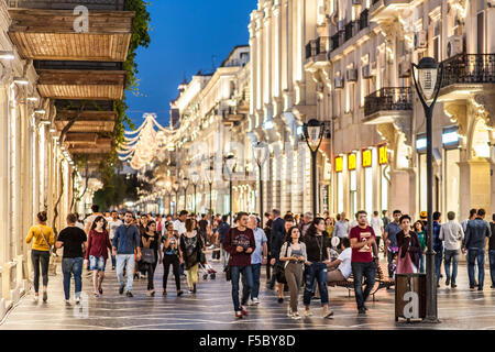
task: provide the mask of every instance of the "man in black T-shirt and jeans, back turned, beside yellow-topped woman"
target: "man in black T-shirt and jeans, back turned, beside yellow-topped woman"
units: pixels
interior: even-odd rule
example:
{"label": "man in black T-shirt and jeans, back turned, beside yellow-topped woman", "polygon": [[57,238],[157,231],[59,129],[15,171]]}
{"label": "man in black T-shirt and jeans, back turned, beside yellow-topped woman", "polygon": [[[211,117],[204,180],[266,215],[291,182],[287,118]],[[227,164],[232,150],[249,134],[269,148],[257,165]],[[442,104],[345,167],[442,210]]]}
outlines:
{"label": "man in black T-shirt and jeans, back turned, beside yellow-topped woman", "polygon": [[70,299],[70,276],[74,275],[76,304],[80,302],[80,292],[82,289],[82,250],[86,250],[88,238],[86,232],[76,226],[77,216],[67,216],[67,228],[61,231],[57,238],[56,248],[64,248],[62,257],[62,272],[64,273],[65,302],[69,305]]}

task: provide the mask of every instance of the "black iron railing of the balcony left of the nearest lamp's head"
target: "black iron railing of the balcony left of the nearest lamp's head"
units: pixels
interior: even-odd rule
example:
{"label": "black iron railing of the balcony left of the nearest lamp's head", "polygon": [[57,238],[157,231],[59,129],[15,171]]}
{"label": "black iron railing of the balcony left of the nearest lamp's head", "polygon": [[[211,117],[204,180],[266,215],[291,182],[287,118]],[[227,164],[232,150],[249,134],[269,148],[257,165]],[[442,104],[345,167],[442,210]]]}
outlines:
{"label": "black iron railing of the balcony left of the nearest lamp's head", "polygon": [[410,87],[386,87],[364,98],[364,116],[378,111],[413,110],[413,89]]}

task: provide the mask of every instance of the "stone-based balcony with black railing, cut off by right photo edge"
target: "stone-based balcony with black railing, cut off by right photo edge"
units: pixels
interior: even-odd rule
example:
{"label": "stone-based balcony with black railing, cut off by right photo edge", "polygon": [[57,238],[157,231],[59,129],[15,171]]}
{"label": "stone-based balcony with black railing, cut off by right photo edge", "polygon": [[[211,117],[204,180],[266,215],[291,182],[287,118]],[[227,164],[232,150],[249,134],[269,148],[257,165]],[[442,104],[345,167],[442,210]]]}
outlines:
{"label": "stone-based balcony with black railing, cut off by right photo edge", "polygon": [[495,90],[495,54],[459,54],[442,64],[439,100],[462,99],[471,94]]}

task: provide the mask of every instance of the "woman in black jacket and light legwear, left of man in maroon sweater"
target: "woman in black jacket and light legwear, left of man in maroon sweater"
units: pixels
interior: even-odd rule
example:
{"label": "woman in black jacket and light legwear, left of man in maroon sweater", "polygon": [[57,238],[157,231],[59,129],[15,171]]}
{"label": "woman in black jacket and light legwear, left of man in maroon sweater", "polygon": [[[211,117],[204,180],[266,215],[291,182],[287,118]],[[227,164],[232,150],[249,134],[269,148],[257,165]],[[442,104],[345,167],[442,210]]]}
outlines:
{"label": "woman in black jacket and light legwear, left of man in maroon sweater", "polygon": [[196,220],[186,220],[186,232],[180,235],[180,251],[186,267],[189,293],[196,294],[198,284],[198,267],[204,243],[196,229]]}

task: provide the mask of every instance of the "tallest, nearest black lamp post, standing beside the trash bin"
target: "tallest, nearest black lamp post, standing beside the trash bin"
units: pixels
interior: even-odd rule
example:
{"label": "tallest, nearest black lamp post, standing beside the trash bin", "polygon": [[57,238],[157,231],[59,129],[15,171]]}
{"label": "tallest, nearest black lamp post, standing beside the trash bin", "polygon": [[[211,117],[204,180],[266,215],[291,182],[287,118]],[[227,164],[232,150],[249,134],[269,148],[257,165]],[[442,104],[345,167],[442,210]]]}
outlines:
{"label": "tallest, nearest black lamp post, standing beside the trash bin", "polygon": [[[419,85],[414,75],[415,68],[418,72]],[[437,279],[435,274],[435,251],[433,251],[433,160],[432,160],[432,119],[435,103],[437,102],[443,79],[443,65],[437,63],[432,57],[424,57],[416,65],[413,63],[413,79],[416,92],[425,109],[427,122],[427,314],[425,321],[439,322],[437,309]],[[431,100],[428,105],[427,100]]]}

